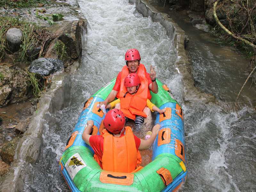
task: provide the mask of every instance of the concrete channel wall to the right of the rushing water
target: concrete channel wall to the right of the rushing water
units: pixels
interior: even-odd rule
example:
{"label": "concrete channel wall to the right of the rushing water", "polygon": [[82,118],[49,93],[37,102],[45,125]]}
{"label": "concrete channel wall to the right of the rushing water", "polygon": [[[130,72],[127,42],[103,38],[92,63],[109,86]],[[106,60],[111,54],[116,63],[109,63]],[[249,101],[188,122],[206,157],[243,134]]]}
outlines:
{"label": "concrete channel wall to the right of the rushing water", "polygon": [[[136,9],[143,17],[151,17],[153,21],[160,22],[166,30],[167,36],[172,40],[172,46],[176,49],[177,60],[175,68],[182,76],[183,99],[185,102],[214,102],[215,97],[206,94],[195,87],[195,81],[191,75],[190,63],[186,50],[184,48],[185,32],[169,17],[168,14],[156,10],[148,3],[148,0],[129,0],[131,4],[136,5]],[[172,63],[169,63],[172,65]]]}

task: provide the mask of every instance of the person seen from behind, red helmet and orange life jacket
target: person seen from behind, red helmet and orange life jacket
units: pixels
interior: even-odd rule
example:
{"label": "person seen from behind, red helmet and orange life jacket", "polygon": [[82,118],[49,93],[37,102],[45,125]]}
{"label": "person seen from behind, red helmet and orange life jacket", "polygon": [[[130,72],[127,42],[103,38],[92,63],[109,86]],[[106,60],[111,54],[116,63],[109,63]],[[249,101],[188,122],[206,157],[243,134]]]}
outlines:
{"label": "person seen from behind, red helmet and orange life jacket", "polygon": [[[160,125],[152,129],[148,140],[136,137],[131,127],[124,127],[125,117],[121,110],[111,109],[103,120],[105,129],[101,135],[89,135],[93,121],[89,120],[82,135],[85,143],[94,151],[94,158],[103,170],[130,173],[139,170],[141,156],[138,150],[148,149],[154,142]],[[136,170],[136,171],[137,171]]]}

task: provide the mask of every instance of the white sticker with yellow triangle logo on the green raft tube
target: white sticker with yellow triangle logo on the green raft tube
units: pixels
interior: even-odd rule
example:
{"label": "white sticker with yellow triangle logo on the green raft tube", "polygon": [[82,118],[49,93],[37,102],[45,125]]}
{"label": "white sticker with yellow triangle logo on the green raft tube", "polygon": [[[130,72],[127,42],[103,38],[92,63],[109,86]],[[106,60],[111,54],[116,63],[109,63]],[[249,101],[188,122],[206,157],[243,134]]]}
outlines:
{"label": "white sticker with yellow triangle logo on the green raft tube", "polygon": [[86,166],[87,165],[84,163],[84,160],[79,155],[79,153],[72,155],[65,164],[65,168],[68,171],[68,174],[72,178],[72,180],[76,176],[76,173],[78,173]]}

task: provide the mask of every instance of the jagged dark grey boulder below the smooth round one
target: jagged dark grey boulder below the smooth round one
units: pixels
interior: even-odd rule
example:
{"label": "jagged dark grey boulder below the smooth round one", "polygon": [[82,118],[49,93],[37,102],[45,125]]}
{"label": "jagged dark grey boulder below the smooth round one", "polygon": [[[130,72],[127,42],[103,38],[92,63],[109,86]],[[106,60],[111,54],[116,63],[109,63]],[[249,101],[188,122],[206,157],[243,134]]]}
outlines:
{"label": "jagged dark grey boulder below the smooth round one", "polygon": [[49,76],[54,72],[61,71],[63,68],[64,63],[59,59],[39,58],[32,61],[29,71],[42,76]]}

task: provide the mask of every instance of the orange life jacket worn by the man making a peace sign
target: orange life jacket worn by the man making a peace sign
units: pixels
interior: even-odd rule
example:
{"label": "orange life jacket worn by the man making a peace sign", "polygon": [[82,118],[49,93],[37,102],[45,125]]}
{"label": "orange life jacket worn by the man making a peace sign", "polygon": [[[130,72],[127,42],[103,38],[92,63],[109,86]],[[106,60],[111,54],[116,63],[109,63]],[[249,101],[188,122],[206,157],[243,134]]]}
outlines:
{"label": "orange life jacket worn by the man making a peace sign", "polygon": [[[138,68],[138,70],[137,70],[137,72],[136,72],[140,77],[146,77],[146,73],[147,73],[147,71],[146,71],[146,68],[145,68],[145,66],[142,64],[142,63],[140,63],[140,65],[139,65],[139,68]],[[129,74],[129,69],[127,68],[127,66],[124,66],[123,68],[122,68],[122,72],[121,72],[121,85],[120,85],[120,90],[119,90],[119,92],[117,93],[117,95],[116,95],[116,97],[117,98],[120,98],[121,96],[124,96],[124,94],[122,95],[121,94],[121,92],[124,92],[124,93],[126,93],[127,91],[127,89],[126,89],[126,87],[124,86],[124,78],[127,76]],[[148,85],[148,82],[147,82],[147,85]],[[148,94],[147,94],[147,96],[148,96],[148,99],[150,100],[151,99],[151,94],[150,94],[150,91],[149,91],[149,89],[148,89]]]}

